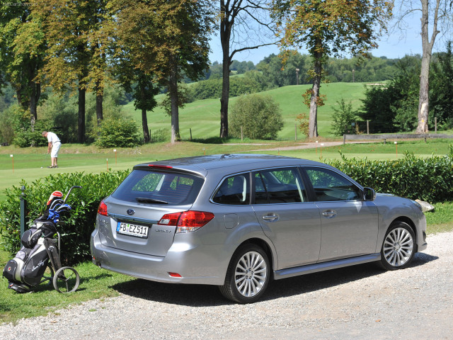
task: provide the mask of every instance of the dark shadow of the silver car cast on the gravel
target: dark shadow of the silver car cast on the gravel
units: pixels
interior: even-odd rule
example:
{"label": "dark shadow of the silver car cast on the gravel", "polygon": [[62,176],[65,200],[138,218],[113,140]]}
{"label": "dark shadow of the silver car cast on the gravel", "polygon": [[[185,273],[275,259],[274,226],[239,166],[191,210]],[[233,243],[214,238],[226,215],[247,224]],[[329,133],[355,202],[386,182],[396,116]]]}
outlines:
{"label": "dark shadow of the silver car cast on the gravel", "polygon": [[[423,266],[436,259],[438,259],[437,256],[417,253],[411,267]],[[322,290],[382,273],[384,271],[377,267],[375,263],[365,263],[294,278],[274,280],[268,285],[268,289],[261,301]],[[117,283],[112,288],[125,295],[174,305],[190,307],[234,305],[234,302],[225,300],[219,289],[213,285],[178,285],[137,279],[125,283]]]}

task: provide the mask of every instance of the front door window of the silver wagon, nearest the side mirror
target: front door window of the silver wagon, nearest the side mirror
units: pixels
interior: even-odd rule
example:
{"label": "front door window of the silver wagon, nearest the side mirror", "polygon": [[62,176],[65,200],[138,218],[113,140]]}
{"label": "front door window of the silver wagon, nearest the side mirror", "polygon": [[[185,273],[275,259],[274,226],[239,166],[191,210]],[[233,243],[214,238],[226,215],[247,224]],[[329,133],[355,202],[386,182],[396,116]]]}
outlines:
{"label": "front door window of the silver wagon, nearest the side mirror", "polygon": [[306,168],[316,200],[362,200],[360,188],[334,171],[321,168]]}

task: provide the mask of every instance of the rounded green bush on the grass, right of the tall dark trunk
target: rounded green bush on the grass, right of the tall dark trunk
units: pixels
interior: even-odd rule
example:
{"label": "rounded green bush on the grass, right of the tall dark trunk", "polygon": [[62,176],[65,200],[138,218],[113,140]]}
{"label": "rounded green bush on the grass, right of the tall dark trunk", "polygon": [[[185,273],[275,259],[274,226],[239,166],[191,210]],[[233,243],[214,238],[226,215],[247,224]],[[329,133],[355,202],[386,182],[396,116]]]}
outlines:
{"label": "rounded green bush on the grass, right of the tall dark trunk", "polygon": [[275,140],[277,132],[283,128],[280,107],[270,96],[250,94],[241,96],[229,117],[230,133],[234,137],[252,140]]}

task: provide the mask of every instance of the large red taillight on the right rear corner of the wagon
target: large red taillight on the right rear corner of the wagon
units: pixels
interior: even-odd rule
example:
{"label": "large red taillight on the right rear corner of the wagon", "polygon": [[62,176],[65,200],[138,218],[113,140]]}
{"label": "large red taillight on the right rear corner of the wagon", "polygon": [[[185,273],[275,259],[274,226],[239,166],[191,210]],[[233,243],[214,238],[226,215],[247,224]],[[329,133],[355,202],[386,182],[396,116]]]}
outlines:
{"label": "large red taillight on the right rear corner of the wagon", "polygon": [[188,210],[162,216],[158,225],[176,225],[176,232],[195,232],[214,218],[212,212]]}

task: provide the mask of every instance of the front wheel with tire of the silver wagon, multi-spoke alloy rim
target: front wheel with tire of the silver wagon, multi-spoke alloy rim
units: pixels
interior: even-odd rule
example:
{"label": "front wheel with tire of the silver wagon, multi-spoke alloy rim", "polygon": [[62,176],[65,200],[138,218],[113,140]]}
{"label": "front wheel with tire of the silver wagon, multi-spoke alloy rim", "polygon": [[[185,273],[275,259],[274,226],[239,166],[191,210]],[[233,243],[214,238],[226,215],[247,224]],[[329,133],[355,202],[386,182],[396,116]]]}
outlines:
{"label": "front wheel with tire of the silver wagon, multi-spoke alloy rim", "polygon": [[405,222],[396,221],[387,230],[382,242],[379,264],[388,271],[403,269],[415,255],[415,234]]}

